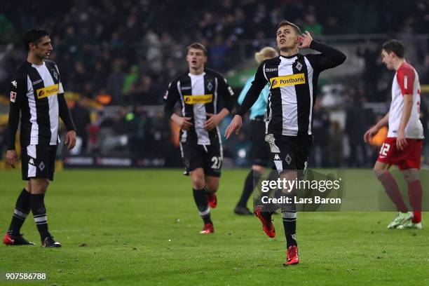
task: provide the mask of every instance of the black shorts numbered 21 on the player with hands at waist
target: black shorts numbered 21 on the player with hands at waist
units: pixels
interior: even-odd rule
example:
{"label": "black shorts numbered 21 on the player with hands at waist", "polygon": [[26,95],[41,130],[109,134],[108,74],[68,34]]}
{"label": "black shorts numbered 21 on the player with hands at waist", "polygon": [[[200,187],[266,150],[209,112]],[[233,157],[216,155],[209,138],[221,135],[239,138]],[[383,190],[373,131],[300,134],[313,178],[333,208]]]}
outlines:
{"label": "black shorts numbered 21 on the player with hands at waist", "polygon": [[222,145],[180,143],[180,151],[186,169],[185,175],[197,168],[203,168],[205,175],[220,177],[224,159]]}

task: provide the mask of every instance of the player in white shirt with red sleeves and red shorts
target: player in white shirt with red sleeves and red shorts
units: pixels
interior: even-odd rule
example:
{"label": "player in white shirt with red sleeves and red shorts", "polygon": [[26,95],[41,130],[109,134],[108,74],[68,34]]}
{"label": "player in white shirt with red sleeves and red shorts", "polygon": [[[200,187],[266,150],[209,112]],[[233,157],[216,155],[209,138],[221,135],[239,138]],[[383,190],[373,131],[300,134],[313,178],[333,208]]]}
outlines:
{"label": "player in white shirt with red sleeves and red shorts", "polygon": [[[420,122],[420,82],[414,67],[404,60],[404,46],[400,41],[390,40],[381,50],[383,64],[396,74],[392,84],[390,110],[376,125],[365,132],[365,142],[385,125],[388,137],[381,146],[374,172],[386,193],[395,203],[398,213],[388,229],[421,229],[422,189],[418,177],[423,148],[423,125]],[[390,165],[397,165],[408,184],[409,212],[399,187],[389,172]]]}

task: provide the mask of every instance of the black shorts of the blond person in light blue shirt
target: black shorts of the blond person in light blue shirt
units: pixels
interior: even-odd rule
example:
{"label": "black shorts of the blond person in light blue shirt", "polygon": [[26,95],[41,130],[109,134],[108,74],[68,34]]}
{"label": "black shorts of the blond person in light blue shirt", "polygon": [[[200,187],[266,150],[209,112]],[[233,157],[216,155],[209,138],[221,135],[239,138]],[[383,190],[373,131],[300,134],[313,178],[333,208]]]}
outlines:
{"label": "black shorts of the blond person in light blue shirt", "polygon": [[267,167],[270,162],[270,148],[265,142],[265,122],[264,119],[252,120],[252,165]]}

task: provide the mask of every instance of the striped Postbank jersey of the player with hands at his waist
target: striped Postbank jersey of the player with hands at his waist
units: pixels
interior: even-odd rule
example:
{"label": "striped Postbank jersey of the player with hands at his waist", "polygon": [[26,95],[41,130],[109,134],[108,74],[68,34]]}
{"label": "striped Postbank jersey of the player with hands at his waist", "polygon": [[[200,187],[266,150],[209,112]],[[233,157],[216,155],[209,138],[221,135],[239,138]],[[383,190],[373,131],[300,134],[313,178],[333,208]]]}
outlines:
{"label": "striped Postbank jersey of the player with hands at his waist", "polygon": [[211,69],[203,74],[193,75],[189,72],[177,76],[165,93],[165,114],[171,116],[177,101],[182,106],[182,116],[191,117],[193,126],[189,130],[180,130],[180,142],[194,142],[199,145],[219,144],[219,128],[205,130],[207,113],[219,112],[219,100],[231,111],[234,106],[233,90],[226,79]]}

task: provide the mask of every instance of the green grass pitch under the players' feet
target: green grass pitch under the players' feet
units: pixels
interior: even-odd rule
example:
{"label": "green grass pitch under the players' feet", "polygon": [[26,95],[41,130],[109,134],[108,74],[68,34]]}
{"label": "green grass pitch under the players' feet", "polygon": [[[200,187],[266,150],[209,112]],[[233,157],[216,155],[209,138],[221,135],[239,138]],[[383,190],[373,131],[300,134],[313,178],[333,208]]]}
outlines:
{"label": "green grass pitch under the players' feet", "polygon": [[[282,267],[281,217],[271,239],[258,219],[232,212],[246,174],[224,170],[216,232],[201,236],[182,170],[57,172],[46,206],[62,248],[40,247],[30,215],[22,233],[38,245],[0,246],[0,285],[429,285],[429,231],[388,231],[393,212],[301,212],[301,263]],[[347,179],[356,190],[379,189],[370,170],[349,170]],[[19,172],[1,171],[0,184],[3,234],[23,183]],[[48,278],[7,281],[12,272]]]}

